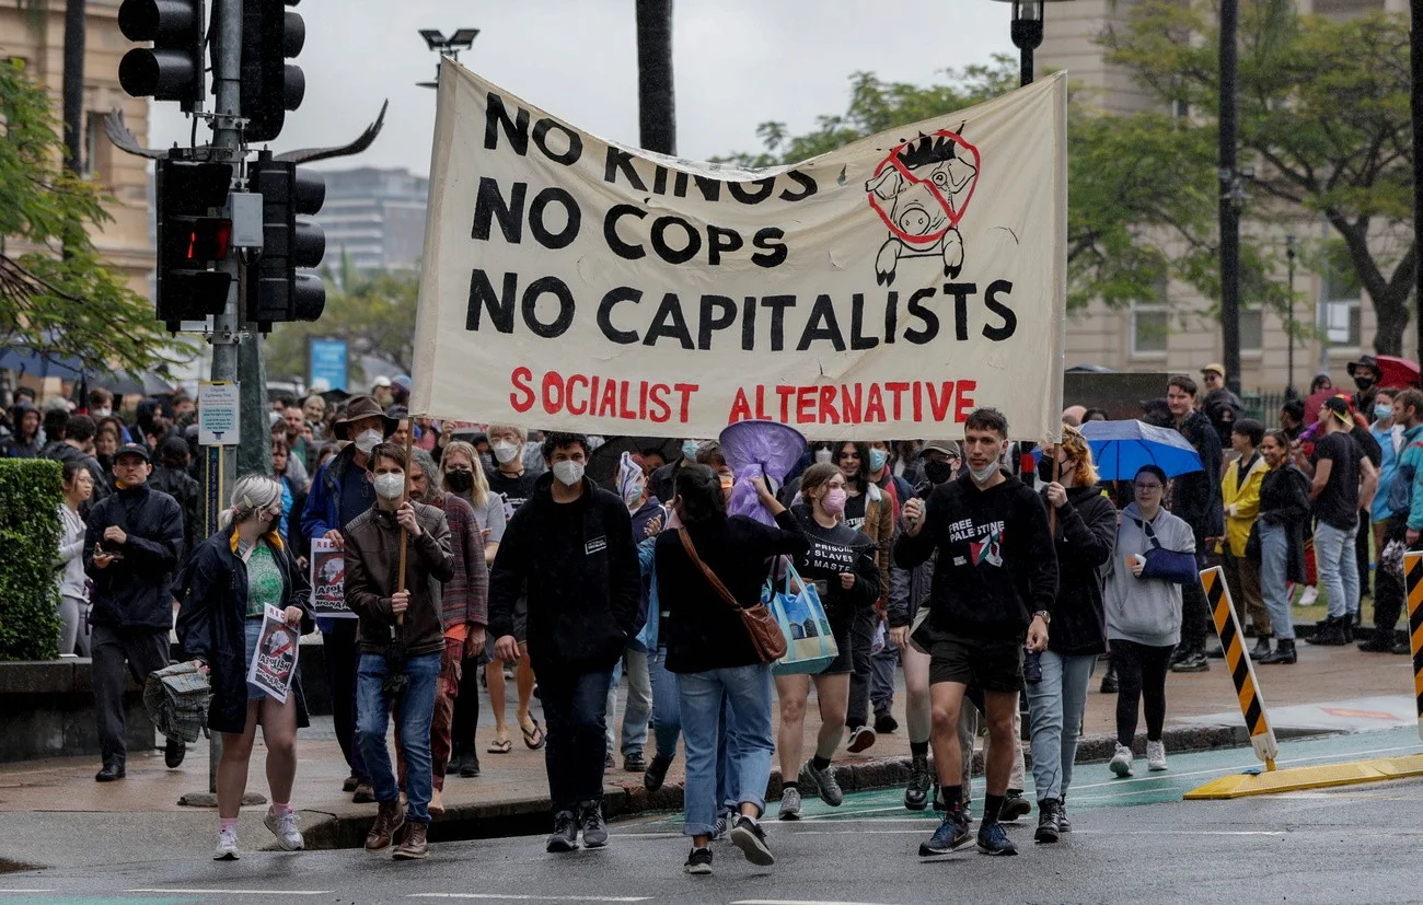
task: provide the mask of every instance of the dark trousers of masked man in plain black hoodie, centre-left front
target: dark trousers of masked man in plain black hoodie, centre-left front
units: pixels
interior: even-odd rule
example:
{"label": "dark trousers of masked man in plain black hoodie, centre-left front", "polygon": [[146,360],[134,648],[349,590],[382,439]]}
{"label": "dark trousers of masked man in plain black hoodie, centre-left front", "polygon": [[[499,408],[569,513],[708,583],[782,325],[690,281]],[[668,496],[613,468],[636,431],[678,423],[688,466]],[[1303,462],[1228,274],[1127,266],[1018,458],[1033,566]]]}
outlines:
{"label": "dark trousers of masked man in plain black hoodie, centre-left front", "polygon": [[586,673],[541,673],[539,700],[548,720],[544,768],[554,813],[603,800],[603,737],[612,666]]}

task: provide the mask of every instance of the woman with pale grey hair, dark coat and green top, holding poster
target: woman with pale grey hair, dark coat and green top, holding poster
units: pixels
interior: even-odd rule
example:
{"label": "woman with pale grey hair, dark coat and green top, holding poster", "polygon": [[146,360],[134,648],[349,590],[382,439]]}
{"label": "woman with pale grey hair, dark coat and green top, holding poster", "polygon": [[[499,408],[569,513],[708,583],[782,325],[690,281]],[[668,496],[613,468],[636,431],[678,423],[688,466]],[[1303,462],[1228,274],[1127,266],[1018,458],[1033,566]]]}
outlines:
{"label": "woman with pale grey hair, dark coat and green top, holding poster", "polygon": [[268,606],[280,609],[286,625],[300,626],[303,635],[316,630],[306,575],[276,532],[280,518],[282,485],[275,478],[239,480],[232,507],[219,517],[218,532],[198,545],[185,566],[189,591],[178,612],[178,639],[184,655],[212,677],[208,726],[222,733],[215,861],[239,857],[238,810],[248,785],[258,724],[272,793],[266,827],[285,851],[306,847],[290,807],[296,730],[307,726],[300,673],[292,677],[285,703],[246,679]]}

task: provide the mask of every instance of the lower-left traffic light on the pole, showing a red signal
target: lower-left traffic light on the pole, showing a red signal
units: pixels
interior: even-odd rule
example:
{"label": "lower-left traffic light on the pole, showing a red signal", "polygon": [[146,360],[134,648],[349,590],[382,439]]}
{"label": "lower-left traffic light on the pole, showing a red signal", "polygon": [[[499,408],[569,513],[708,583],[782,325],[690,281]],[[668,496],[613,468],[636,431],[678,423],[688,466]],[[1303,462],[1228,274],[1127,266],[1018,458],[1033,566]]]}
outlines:
{"label": "lower-left traffic light on the pole, showing a red signal", "polygon": [[226,259],[232,239],[232,221],[213,213],[231,186],[232,164],[157,161],[157,309],[172,332],[228,305],[232,273],[212,268]]}

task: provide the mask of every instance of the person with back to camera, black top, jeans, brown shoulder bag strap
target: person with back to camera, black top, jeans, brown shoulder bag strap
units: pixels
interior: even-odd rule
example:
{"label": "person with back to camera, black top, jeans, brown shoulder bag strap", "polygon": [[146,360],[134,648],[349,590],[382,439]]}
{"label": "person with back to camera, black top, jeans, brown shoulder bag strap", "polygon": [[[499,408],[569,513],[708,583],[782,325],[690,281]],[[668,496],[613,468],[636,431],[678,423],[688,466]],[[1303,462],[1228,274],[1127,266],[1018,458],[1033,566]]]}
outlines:
{"label": "person with back to camera, black top, jeans, brown shoulder bag strap", "polygon": [[[721,702],[730,709],[730,793],[740,814],[731,842],[753,864],[776,859],[758,820],[771,776],[771,666],[761,662],[740,613],[758,606],[767,561],[810,548],[800,522],[756,481],[761,505],[778,528],[727,517],[721,480],[706,465],[677,472],[672,509],[682,519],[655,544],[660,602],[667,612],[667,670],[677,676],[682,737],[687,750],[686,822],[689,874],[712,872],[707,842],[716,832],[717,737]],[[710,575],[707,575],[710,572]],[[713,581],[713,576],[716,581]]]}

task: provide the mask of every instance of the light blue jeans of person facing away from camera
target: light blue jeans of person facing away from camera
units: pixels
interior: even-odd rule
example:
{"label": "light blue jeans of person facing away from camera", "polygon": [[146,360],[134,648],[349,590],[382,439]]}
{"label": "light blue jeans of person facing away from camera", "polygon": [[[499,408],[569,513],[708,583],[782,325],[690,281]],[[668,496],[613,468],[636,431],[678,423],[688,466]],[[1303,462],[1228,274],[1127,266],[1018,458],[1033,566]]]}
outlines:
{"label": "light blue jeans of person facing away from camera", "polygon": [[717,736],[721,699],[729,720],[726,764],[730,795],[737,804],[766,810],[766,784],[771,778],[771,667],[764,663],[682,673],[677,689],[682,704],[682,739],[687,747],[686,822],[683,835],[712,835],[716,831]]}

